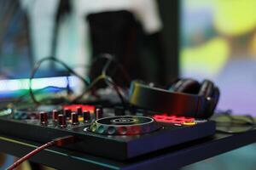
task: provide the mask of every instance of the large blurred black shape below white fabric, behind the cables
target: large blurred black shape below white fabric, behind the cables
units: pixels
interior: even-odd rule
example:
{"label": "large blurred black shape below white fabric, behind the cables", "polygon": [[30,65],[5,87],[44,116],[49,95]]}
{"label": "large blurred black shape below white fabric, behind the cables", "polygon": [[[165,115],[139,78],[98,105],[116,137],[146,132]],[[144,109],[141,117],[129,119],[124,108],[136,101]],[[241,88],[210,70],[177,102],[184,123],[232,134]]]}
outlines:
{"label": "large blurred black shape below white fabric, behind the cables", "polygon": [[[146,35],[134,15],[125,10],[89,14],[87,20],[93,58],[113,54],[131,79],[164,82],[166,69],[159,32]],[[105,63],[102,60],[95,65],[90,77],[98,76]],[[119,85],[125,85],[119,71],[113,69],[110,76]]]}

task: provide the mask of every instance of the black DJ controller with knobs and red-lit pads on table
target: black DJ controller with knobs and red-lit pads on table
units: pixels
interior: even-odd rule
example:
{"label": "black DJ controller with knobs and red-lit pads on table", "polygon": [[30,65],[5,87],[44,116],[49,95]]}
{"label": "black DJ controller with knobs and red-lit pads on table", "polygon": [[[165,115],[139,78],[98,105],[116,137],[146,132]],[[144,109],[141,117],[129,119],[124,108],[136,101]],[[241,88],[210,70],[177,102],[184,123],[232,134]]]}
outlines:
{"label": "black DJ controller with knobs and red-lit pads on table", "polygon": [[193,117],[122,107],[59,105],[38,109],[6,109],[0,113],[0,132],[41,143],[72,135],[63,147],[95,156],[127,160],[215,133],[215,122]]}

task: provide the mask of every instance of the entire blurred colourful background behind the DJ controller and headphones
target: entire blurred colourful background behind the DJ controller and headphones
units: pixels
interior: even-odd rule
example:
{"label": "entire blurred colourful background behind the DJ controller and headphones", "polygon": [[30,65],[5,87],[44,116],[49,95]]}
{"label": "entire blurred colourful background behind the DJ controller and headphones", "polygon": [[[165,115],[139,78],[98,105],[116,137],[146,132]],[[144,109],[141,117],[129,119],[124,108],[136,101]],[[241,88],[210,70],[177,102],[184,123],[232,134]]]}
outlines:
{"label": "entire blurred colourful background behind the DJ controller and headphones", "polygon": [[[53,56],[95,77],[87,65],[108,53],[132,79],[161,86],[176,77],[211,79],[221,90],[219,110],[256,116],[255,7],[254,0],[0,0],[0,98],[27,89],[39,59]],[[44,63],[34,88],[49,86],[49,78],[65,86],[68,74]],[[184,169],[254,169],[255,150]]]}

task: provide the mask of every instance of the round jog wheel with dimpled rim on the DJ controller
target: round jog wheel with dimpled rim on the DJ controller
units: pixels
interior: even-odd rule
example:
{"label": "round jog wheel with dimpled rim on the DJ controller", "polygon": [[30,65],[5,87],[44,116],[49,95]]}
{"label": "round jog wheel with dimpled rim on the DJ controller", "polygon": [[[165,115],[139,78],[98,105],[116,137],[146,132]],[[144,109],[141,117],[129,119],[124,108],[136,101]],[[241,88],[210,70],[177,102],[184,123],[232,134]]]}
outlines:
{"label": "round jog wheel with dimpled rim on the DJ controller", "polygon": [[108,135],[136,135],[151,133],[160,127],[159,123],[147,116],[110,116],[93,122],[90,131]]}

